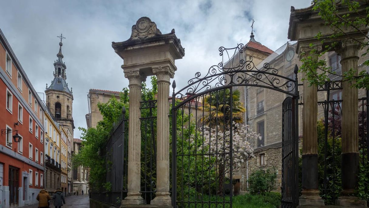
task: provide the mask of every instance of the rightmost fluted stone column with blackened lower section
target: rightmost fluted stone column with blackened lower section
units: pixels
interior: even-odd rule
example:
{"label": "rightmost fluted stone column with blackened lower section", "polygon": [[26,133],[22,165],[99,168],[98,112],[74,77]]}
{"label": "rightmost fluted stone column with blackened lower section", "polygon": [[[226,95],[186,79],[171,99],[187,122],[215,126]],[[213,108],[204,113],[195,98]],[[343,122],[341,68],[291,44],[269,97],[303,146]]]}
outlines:
{"label": "rightmost fluted stone column with blackened lower section", "polygon": [[[341,55],[342,74],[352,69],[356,71],[354,76],[358,75],[359,47],[359,43],[354,40],[341,43],[337,53]],[[340,205],[347,205],[348,201],[345,199],[355,200],[349,195],[355,192],[359,172],[358,89],[352,87],[348,81],[342,81],[342,100],[342,197],[338,202]]]}

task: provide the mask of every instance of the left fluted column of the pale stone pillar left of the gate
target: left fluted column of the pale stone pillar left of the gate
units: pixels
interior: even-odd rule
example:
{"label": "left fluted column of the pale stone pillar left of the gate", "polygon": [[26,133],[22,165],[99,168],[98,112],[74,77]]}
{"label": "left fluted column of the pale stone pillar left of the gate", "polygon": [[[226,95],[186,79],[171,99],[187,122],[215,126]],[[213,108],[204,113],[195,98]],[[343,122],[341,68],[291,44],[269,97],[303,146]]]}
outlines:
{"label": "left fluted column of the pale stone pillar left of the gate", "polygon": [[139,74],[139,70],[129,71],[124,76],[128,78],[130,88],[129,123],[128,123],[128,193],[122,200],[122,205],[145,204],[141,197],[141,83],[146,77]]}

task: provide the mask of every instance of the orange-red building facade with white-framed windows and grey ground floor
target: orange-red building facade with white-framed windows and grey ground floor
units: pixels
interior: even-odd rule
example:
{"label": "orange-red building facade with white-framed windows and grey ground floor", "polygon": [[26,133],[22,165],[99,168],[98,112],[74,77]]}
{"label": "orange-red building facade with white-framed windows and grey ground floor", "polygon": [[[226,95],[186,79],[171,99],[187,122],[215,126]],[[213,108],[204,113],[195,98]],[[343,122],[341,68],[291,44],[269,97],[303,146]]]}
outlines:
{"label": "orange-red building facade with white-framed windows and grey ground floor", "polygon": [[[37,203],[44,187],[44,105],[0,30],[0,207]],[[13,136],[21,136],[14,142]]]}

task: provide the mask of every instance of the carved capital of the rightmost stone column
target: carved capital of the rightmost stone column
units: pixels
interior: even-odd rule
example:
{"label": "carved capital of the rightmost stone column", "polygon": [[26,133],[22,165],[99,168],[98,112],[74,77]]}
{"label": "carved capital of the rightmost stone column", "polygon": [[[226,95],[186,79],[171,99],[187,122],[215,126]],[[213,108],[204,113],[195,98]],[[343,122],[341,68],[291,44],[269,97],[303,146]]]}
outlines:
{"label": "carved capital of the rightmost stone column", "polygon": [[335,50],[341,56],[341,60],[346,58],[359,58],[360,42],[364,41],[364,38],[359,40],[348,39],[339,42],[337,49]]}

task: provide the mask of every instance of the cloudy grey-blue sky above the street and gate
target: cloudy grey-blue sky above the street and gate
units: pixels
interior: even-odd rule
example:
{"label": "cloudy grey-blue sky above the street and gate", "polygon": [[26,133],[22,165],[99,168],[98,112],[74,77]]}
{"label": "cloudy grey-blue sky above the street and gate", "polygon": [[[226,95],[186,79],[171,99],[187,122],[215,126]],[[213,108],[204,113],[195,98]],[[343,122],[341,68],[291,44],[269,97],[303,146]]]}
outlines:
{"label": "cloudy grey-blue sky above the street and gate", "polygon": [[[175,28],[185,56],[176,61],[177,89],[197,71],[221,61],[220,46],[235,47],[250,39],[276,50],[287,41],[290,8],[311,0],[1,0],[0,28],[38,92],[53,79],[59,36],[67,83],[73,88],[73,119],[86,127],[90,88],[121,91],[128,86],[111,42],[125,41],[132,25],[149,17],[163,34]],[[76,128],[74,137],[80,137]]]}

